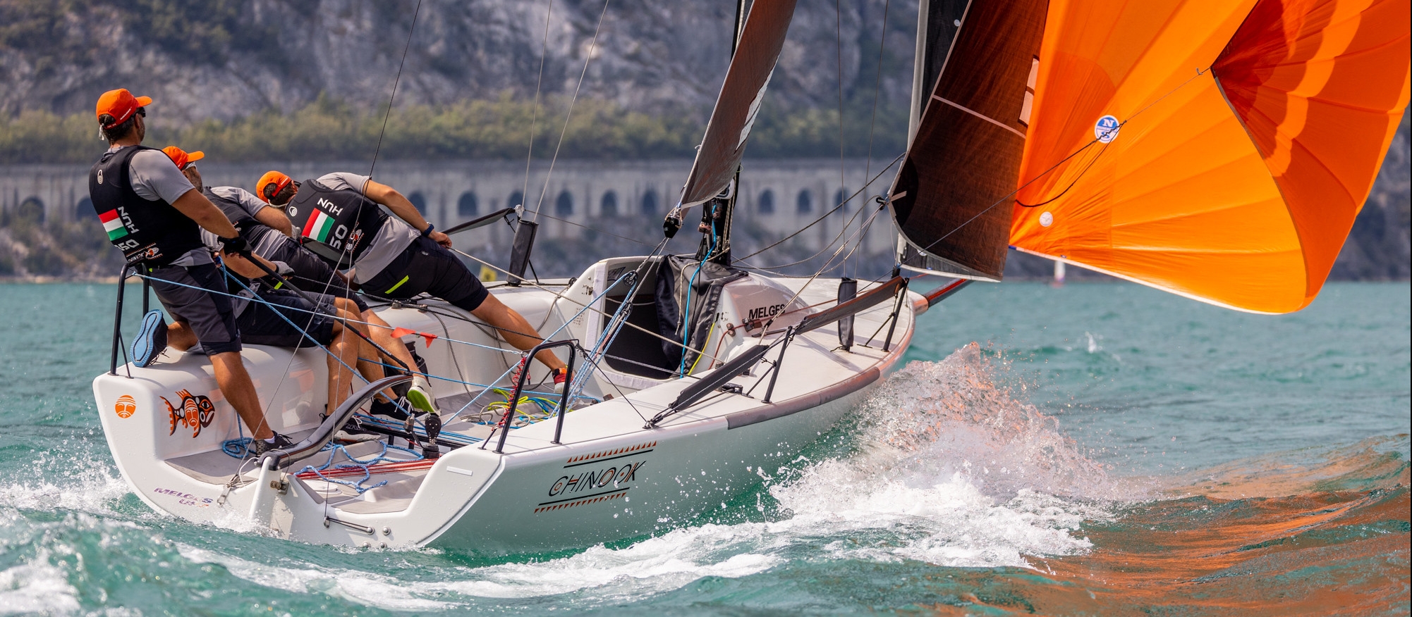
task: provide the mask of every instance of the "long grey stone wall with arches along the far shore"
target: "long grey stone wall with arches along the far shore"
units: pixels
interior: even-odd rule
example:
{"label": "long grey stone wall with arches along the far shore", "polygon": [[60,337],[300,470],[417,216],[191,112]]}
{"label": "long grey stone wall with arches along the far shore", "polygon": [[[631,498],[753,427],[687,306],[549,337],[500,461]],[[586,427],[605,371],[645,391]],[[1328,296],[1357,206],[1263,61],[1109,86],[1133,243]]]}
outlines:
{"label": "long grey stone wall with arches along the far shore", "polygon": [[[837,159],[747,161],[736,217],[737,247],[750,248],[799,230],[836,206],[844,194],[858,190],[866,168],[870,168],[871,176],[885,162],[867,165],[863,159],[844,161],[842,189],[846,193],[840,193]],[[210,186],[241,186],[247,190],[268,169],[284,170],[297,179],[332,170],[367,172],[367,162],[202,161],[198,166]],[[690,161],[681,159],[558,161],[551,173],[548,162],[537,161],[527,177],[525,163],[514,161],[384,161],[377,163],[374,177],[407,194],[429,221],[443,230],[524,203],[527,210],[538,207],[545,214],[539,217],[539,242],[579,239],[586,228],[655,241],[659,237],[644,234],[659,228],[689,169]],[[86,165],[6,166],[0,169],[0,210],[28,211],[30,216],[42,211],[45,220],[93,217],[88,200],[88,172]],[[868,207],[868,197],[885,192],[891,179],[892,172],[880,176],[861,196],[850,200],[844,211],[794,238],[794,248],[819,251],[832,244],[849,216],[858,207]],[[695,214],[686,217],[682,235],[695,228]],[[882,213],[864,238],[863,252],[888,251],[891,234],[891,218]],[[505,248],[508,242],[505,225],[490,225],[457,237],[457,244],[466,248]]]}

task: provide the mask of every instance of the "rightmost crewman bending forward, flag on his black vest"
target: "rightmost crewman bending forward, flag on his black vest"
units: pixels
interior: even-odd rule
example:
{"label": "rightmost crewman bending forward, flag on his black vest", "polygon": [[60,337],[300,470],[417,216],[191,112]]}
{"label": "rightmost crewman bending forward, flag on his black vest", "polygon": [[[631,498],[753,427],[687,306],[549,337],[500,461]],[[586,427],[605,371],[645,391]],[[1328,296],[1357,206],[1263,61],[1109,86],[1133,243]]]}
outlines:
{"label": "rightmost crewman bending forward, flag on his black vest", "polygon": [[[391,186],[356,173],[329,173],[301,183],[271,170],[256,183],[256,196],[284,208],[304,245],[316,255],[340,268],[352,265],[353,280],[364,292],[390,299],[425,292],[484,320],[518,349],[544,341],[524,316],[491,296],[450,252],[450,237],[436,231]],[[563,361],[549,349],[535,359],[549,368],[555,390],[562,392]],[[518,369],[524,370],[524,361]],[[417,400],[412,404],[422,406]]]}

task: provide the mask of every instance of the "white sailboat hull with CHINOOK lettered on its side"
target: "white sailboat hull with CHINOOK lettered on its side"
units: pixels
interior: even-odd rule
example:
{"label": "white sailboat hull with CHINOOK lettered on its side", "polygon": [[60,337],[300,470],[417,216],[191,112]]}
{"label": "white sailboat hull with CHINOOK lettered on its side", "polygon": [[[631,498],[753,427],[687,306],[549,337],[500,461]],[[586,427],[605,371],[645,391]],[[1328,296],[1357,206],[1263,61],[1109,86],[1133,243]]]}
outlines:
{"label": "white sailboat hull with CHINOOK lettered on its side", "polygon": [[[596,297],[594,289],[607,289],[607,275],[637,261],[640,258],[599,262],[575,283],[552,287],[563,296],[558,301],[552,292],[528,286],[501,286],[493,292],[531,323],[544,323],[541,332],[545,335],[568,320],[568,327],[551,338],[578,338],[592,348],[607,317],[579,313],[582,307],[570,300],[590,301]],[[730,283],[727,292],[733,293],[723,294],[722,323],[770,306],[771,299],[782,303],[805,282],[772,280],[753,275]],[[815,280],[791,308],[833,300],[836,289],[836,280]],[[602,299],[597,304],[604,308]],[[261,475],[251,462],[241,463],[220,452],[225,440],[239,435],[239,421],[234,410],[220,399],[205,356],[168,351],[151,368],[120,368],[116,376],[99,376],[93,392],[123,478],[157,511],[225,527],[268,528],[271,534],[315,544],[431,545],[479,554],[579,548],[652,534],[722,509],[760,480],[761,468],[774,473],[792,461],[802,447],[827,431],[897,368],[911,341],[915,314],[925,307],[925,299],[909,294],[888,352],[881,349],[887,334],[882,324],[892,311],[892,301],[857,316],[857,344],[850,352],[834,351],[839,347],[834,325],[796,337],[786,347],[772,403],[761,401],[768,385],[764,379],[750,397],[724,392],[709,394],[655,428],[644,428],[644,416],[650,418],[664,410],[695,379],[654,380],[604,365],[606,370],[593,373],[585,394],[613,394],[614,399],[566,414],[562,444],[551,442],[554,420],[528,424],[508,432],[504,454],[494,454],[496,435],[484,449],[476,442],[443,452],[436,461],[373,466],[373,470],[385,472],[374,473],[364,486],[388,483],[361,494],[311,473],[298,473],[305,463],[319,465],[328,459],[326,454]],[[456,311],[446,306],[442,310]],[[808,313],[799,310],[785,325]],[[412,308],[385,308],[381,316],[393,325],[494,345],[466,321],[442,317],[443,330],[433,316]],[[877,338],[868,347],[861,345],[880,327]],[[764,342],[774,337],[765,337]],[[417,337],[408,337],[412,338]],[[706,352],[720,361],[761,341],[747,335],[744,328],[734,334],[713,332],[712,338]],[[501,354],[496,351],[445,341],[425,348],[419,338],[417,341],[433,375],[459,375],[465,382],[493,382],[505,370],[507,361],[518,359],[518,355],[497,358]],[[260,400],[270,409],[267,418],[277,431],[299,434],[318,424],[326,375],[321,349],[291,354],[251,345],[244,358]],[[767,355],[770,361],[775,358],[777,351]],[[281,380],[287,365],[288,376]],[[757,365],[751,375],[731,383],[748,390],[767,373],[765,366]],[[127,370],[133,379],[127,378]],[[538,380],[542,370],[535,363],[531,376]],[[705,366],[695,372],[698,376],[707,373]],[[500,383],[504,387],[505,382]],[[192,437],[193,425],[178,423],[172,428],[172,414],[162,397],[181,411],[179,390],[193,400],[206,396],[213,403],[213,418],[196,437]],[[453,382],[436,385],[443,414],[469,399],[466,390],[479,392]],[[119,403],[124,396],[131,397],[130,404]],[[483,438],[489,427],[453,421],[448,431]],[[349,448],[356,456],[378,449],[377,444]],[[241,472],[239,479],[230,482],[237,470]],[[343,479],[361,476],[357,472]],[[278,490],[281,482],[285,490]],[[237,486],[227,490],[227,483]]]}

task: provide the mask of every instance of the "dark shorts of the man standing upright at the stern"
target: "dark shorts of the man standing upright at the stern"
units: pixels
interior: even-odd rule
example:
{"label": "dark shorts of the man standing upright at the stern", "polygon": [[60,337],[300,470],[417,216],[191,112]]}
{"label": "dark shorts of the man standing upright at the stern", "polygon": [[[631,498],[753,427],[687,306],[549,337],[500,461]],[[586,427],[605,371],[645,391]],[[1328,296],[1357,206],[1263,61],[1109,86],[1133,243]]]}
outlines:
{"label": "dark shorts of the man standing upright at the stern", "polygon": [[240,351],[240,330],[215,263],[161,266],[150,272],[152,292],[172,318],[186,324],[209,355]]}

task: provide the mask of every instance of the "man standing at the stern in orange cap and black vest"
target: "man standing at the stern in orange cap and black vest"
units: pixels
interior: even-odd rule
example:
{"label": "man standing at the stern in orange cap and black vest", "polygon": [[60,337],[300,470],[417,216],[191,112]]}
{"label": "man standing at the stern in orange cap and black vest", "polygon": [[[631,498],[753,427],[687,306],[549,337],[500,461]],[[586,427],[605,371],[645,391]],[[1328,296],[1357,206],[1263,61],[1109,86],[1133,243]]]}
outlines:
{"label": "man standing at the stern in orange cap and black vest", "polygon": [[[97,124],[107,152],[89,172],[89,199],[109,241],[130,265],[147,270],[157,299],[176,323],[189,328],[210,358],[222,396],[254,437],[253,449],[285,448],[291,441],[274,432],[260,410],[256,386],[240,361],[240,331],[226,285],[201,241],[205,228],[220,238],[226,252],[249,251],[234,225],[161,151],[147,148],[147,108],[152,100],[126,89],[97,99]],[[138,338],[148,358],[161,354],[165,323],[143,320]]]}

